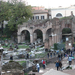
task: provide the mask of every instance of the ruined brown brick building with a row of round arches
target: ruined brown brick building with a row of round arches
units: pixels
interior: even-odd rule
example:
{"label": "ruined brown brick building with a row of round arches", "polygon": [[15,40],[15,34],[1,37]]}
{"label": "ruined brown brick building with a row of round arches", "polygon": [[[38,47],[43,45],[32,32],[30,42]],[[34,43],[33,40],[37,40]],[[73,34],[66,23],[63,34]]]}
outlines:
{"label": "ruined brown brick building with a row of round arches", "polygon": [[[48,47],[50,48],[50,46],[52,46],[54,43],[61,42],[64,37],[65,39],[67,37],[71,37],[72,41],[74,40],[75,18],[72,12],[71,12],[71,16],[62,19],[59,18],[51,19],[49,18],[50,14],[47,13],[47,15],[48,15],[47,19],[30,20],[27,23],[23,23],[23,25],[19,25],[18,32],[17,32],[18,43],[25,42],[25,40],[27,40],[28,38],[30,39],[30,43],[34,43],[37,39],[42,39],[42,42],[45,43],[45,48]],[[63,34],[64,28],[69,28],[71,32],[67,34]],[[40,36],[38,36],[39,34],[41,35],[41,38]]]}

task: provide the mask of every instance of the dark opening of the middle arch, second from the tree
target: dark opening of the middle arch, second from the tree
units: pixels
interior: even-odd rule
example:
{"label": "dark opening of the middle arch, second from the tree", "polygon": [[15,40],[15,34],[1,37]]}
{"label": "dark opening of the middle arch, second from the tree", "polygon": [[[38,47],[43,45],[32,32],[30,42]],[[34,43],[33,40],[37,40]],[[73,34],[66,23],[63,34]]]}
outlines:
{"label": "dark opening of the middle arch, second from the tree", "polygon": [[37,40],[37,39],[41,39],[41,41],[43,42],[43,32],[41,29],[35,29],[33,31],[33,39],[34,39],[34,42]]}

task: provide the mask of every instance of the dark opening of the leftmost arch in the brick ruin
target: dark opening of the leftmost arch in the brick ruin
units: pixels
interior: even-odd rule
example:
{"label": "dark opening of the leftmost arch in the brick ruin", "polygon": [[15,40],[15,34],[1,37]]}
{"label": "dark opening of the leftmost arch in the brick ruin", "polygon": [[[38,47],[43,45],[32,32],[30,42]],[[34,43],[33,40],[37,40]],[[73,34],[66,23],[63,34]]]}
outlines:
{"label": "dark opening of the leftmost arch in the brick ruin", "polygon": [[28,30],[23,30],[21,32],[21,40],[22,42],[30,43],[30,33]]}

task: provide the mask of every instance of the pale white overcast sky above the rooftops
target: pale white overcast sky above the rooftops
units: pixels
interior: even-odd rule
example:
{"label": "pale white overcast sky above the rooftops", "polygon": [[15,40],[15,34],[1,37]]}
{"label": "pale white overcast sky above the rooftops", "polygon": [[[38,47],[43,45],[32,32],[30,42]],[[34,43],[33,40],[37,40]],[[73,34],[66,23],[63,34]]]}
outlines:
{"label": "pale white overcast sky above the rooftops", "polygon": [[44,6],[45,8],[69,7],[75,5],[75,0],[26,0],[31,6]]}

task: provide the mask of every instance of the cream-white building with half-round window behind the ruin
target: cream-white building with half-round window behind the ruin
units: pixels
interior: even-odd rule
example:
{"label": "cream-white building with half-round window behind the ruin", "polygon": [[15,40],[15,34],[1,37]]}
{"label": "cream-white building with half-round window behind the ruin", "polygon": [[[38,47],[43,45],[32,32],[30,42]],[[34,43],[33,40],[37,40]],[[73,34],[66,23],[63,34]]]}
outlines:
{"label": "cream-white building with half-round window behind the ruin", "polygon": [[51,9],[52,18],[62,18],[65,16],[70,16],[71,13],[75,15],[75,5],[65,8],[59,7]]}

